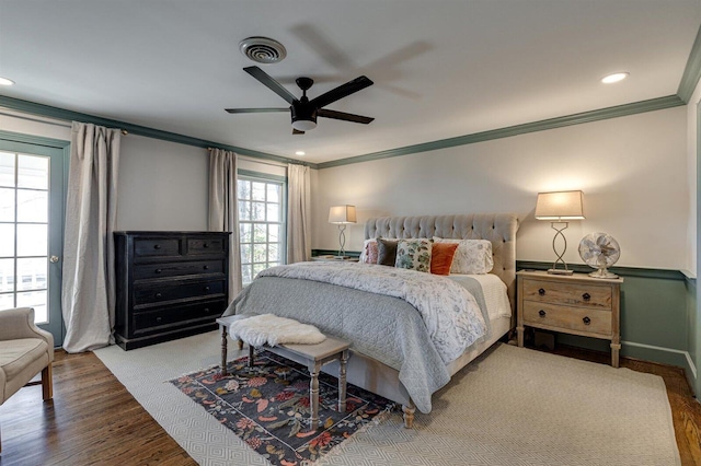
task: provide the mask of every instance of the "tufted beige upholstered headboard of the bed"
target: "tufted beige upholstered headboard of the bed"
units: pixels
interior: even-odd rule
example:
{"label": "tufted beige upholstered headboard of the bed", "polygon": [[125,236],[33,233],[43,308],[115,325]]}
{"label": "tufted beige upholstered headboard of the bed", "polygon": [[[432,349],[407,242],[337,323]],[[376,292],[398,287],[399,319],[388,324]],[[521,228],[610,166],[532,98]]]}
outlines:
{"label": "tufted beige upholstered headboard of the bed", "polygon": [[365,238],[451,237],[490,240],[496,275],[506,283],[512,310],[516,307],[516,231],[514,213],[464,213],[457,215],[379,217],[365,223]]}

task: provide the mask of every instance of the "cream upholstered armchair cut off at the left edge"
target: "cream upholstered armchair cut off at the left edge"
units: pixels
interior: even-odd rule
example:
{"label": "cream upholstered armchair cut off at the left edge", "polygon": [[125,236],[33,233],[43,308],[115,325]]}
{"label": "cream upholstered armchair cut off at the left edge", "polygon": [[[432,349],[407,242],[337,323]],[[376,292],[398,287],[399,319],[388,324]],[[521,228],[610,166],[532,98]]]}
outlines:
{"label": "cream upholstered armchair cut off at the left edge", "polygon": [[[0,311],[0,405],[23,386],[39,383],[44,399],[51,399],[53,362],[54,337],[34,325],[33,308]],[[31,382],[39,372],[42,382]]]}

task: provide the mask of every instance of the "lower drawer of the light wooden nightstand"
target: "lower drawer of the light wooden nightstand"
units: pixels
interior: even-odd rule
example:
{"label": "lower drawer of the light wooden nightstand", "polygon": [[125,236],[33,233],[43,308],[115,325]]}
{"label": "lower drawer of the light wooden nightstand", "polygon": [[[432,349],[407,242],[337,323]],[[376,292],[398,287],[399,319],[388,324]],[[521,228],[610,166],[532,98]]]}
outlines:
{"label": "lower drawer of the light wooden nightstand", "polygon": [[524,324],[602,336],[610,336],[612,330],[610,311],[536,302],[524,302]]}

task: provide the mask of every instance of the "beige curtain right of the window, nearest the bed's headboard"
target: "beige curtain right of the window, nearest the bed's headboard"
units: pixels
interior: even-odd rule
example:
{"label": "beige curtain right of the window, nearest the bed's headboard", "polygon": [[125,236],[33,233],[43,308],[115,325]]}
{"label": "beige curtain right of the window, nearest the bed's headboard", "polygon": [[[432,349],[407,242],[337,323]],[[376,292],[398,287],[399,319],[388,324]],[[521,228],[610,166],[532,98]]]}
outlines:
{"label": "beige curtain right of the window, nearest the bed's headboard", "polygon": [[311,257],[311,175],[303,165],[287,165],[287,264]]}

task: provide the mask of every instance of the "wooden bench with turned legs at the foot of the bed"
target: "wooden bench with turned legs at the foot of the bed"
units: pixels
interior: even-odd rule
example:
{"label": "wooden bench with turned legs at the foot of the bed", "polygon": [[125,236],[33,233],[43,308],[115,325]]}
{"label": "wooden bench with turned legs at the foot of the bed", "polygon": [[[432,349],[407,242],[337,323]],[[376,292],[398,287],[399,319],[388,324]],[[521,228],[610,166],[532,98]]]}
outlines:
{"label": "wooden bench with turned legs at the foot of the bed", "polygon": [[[227,375],[227,349],[229,326],[243,316],[231,315],[219,317],[217,324],[221,329],[221,374]],[[326,337],[325,340],[318,345],[278,345],[271,347],[265,345],[267,351],[271,351],[285,359],[289,359],[299,364],[303,364],[309,370],[311,380],[309,382],[309,401],[311,405],[310,426],[317,429],[321,426],[319,419],[319,372],[321,366],[338,360],[338,411],[346,411],[346,363],[348,362],[348,348],[350,343],[337,338]],[[243,349],[243,341],[239,340],[239,349]],[[254,348],[249,346],[249,366],[254,364]]]}

